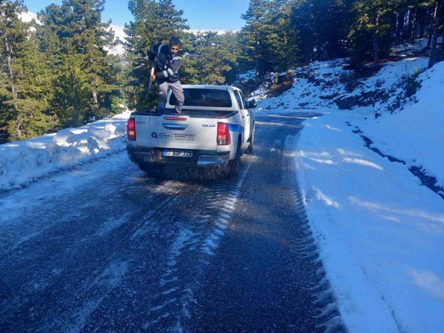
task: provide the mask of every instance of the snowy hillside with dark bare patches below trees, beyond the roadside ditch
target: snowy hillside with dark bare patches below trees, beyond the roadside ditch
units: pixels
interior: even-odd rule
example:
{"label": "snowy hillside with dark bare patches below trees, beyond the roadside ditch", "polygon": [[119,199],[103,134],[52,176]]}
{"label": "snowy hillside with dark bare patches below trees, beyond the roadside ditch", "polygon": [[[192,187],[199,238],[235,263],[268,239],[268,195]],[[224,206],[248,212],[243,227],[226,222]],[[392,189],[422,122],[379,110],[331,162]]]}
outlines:
{"label": "snowy hillside with dark bare patches below trees, beyond the roadside ditch", "polygon": [[[406,97],[406,86],[416,72],[425,71],[427,57],[406,56],[417,45],[403,49],[402,60],[383,64],[376,74],[356,77],[343,70],[345,60],[316,62],[295,70],[293,88],[266,98],[264,87],[253,92],[258,113],[322,110],[326,113],[351,113],[344,123],[369,138],[371,147],[420,169],[444,186],[444,157],[440,142],[444,133],[444,63],[416,78],[417,92]],[[383,133],[383,135],[381,135]]]}

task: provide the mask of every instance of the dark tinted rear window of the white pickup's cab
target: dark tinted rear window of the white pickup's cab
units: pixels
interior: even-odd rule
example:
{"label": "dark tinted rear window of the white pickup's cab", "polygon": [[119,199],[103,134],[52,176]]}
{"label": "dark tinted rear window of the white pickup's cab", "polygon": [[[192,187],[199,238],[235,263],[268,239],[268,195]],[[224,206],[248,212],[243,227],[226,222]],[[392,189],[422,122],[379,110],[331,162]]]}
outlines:
{"label": "dark tinted rear window of the white pickup's cab", "polygon": [[[187,107],[216,107],[231,108],[231,96],[227,90],[222,89],[184,89]],[[171,94],[170,105],[176,104],[176,97]]]}

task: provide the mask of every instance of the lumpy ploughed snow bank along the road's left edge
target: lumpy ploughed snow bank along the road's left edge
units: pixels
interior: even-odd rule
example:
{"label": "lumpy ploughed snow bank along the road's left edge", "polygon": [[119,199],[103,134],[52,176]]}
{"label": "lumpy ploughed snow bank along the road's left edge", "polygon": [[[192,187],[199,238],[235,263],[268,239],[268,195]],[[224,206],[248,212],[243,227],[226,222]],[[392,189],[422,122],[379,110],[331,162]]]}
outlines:
{"label": "lumpy ploughed snow bank along the road's left edge", "polygon": [[0,145],[0,189],[20,188],[59,168],[124,149],[130,113]]}

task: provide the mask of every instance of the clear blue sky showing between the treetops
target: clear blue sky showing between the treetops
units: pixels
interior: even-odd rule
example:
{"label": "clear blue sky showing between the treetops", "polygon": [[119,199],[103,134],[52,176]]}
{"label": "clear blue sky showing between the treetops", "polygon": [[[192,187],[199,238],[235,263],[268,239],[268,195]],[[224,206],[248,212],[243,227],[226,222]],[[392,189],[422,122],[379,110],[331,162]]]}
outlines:
{"label": "clear blue sky showing between the treetops", "polygon": [[[61,4],[62,0],[24,0],[28,10],[37,13],[50,3]],[[245,21],[240,15],[248,9],[250,0],[173,0],[176,9],[184,10],[190,29],[240,30]],[[111,18],[115,25],[123,26],[132,20],[126,0],[106,0],[104,21]]]}

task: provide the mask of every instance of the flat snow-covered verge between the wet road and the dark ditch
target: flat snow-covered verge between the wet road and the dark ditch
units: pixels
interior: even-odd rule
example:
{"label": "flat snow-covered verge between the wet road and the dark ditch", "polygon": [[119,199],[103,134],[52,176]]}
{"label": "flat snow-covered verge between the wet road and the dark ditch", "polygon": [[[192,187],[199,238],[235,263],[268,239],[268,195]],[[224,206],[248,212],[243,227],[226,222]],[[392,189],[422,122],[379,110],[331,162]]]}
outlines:
{"label": "flat snow-covered verge between the wet road and the dark ditch", "polygon": [[307,121],[296,157],[341,317],[349,332],[442,332],[444,201],[366,148],[352,118]]}

